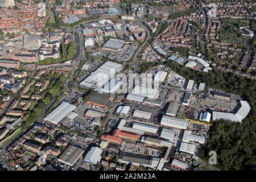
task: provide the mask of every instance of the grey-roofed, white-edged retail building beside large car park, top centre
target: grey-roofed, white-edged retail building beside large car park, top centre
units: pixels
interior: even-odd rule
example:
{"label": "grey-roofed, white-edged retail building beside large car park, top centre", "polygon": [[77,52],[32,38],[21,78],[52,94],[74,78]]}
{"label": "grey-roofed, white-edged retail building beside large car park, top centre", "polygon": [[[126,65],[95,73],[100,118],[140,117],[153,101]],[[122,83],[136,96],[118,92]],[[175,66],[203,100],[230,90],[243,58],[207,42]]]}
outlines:
{"label": "grey-roofed, white-edged retail building beside large car park, top centre", "polygon": [[118,40],[110,38],[103,46],[102,49],[106,51],[123,51],[126,47],[125,40]]}

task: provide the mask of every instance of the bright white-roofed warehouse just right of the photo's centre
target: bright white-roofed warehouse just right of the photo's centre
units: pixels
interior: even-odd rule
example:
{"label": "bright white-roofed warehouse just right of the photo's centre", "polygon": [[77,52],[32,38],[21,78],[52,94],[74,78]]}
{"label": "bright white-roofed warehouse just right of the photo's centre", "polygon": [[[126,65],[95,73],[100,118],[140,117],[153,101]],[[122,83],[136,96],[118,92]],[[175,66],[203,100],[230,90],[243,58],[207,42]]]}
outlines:
{"label": "bright white-roofed warehouse just right of the photo's centre", "polygon": [[136,85],[131,93],[148,97],[150,99],[158,98],[158,89],[147,88],[139,85]]}

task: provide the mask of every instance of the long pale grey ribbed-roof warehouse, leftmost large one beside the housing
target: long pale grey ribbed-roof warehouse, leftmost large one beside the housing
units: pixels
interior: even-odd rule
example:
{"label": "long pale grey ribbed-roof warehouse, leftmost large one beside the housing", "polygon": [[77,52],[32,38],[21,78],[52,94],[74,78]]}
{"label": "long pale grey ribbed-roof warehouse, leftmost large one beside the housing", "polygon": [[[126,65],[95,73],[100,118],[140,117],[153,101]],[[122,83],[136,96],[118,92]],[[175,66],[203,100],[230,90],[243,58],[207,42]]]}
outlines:
{"label": "long pale grey ribbed-roof warehouse, leftmost large one beside the housing", "polygon": [[44,118],[45,121],[54,123],[57,125],[61,121],[61,119],[65,118],[71,111],[73,111],[76,106],[69,104],[68,102],[62,102],[56,109],[54,109],[51,113]]}

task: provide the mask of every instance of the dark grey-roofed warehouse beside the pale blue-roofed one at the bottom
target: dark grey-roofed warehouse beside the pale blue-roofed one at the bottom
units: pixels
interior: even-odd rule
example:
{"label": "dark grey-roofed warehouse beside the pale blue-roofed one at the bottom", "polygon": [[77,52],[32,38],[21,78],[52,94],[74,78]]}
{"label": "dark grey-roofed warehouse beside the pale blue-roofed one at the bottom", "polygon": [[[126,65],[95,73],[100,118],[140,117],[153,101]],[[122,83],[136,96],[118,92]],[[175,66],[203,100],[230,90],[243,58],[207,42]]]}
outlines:
{"label": "dark grey-roofed warehouse beside the pale blue-roofed one at the bottom", "polygon": [[73,166],[83,153],[84,150],[81,148],[70,145],[57,160],[69,166]]}

